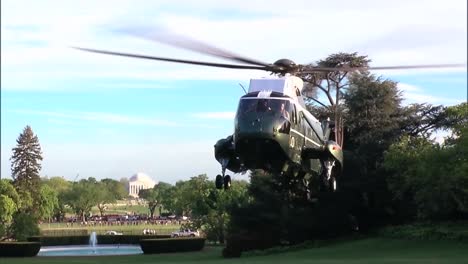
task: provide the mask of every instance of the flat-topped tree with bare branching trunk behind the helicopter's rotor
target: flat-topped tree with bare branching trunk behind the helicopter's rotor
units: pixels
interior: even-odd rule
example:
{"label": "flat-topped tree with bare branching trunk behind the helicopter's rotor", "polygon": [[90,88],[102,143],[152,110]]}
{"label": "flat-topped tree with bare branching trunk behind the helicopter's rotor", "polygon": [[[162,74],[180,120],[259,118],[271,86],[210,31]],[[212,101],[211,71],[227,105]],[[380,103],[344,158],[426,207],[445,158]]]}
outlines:
{"label": "flat-topped tree with bare branching trunk behind the helicopter's rotor", "polygon": [[[370,60],[367,56],[359,56],[357,53],[336,53],[328,56],[324,60],[320,60],[316,65],[308,65],[304,70],[313,70],[314,67],[326,68],[346,68],[360,67],[365,68]],[[365,70],[361,70],[365,72]],[[331,71],[331,72],[314,72],[301,74],[300,77],[307,82],[304,92],[317,94],[317,89],[323,92],[329,105],[320,102],[314,97],[309,97],[310,104],[318,104],[319,109],[322,108],[322,113],[326,112],[328,116],[332,116],[335,123],[335,142],[343,147],[344,130],[343,130],[343,102],[342,98],[344,90],[348,88],[349,77],[348,71]]]}

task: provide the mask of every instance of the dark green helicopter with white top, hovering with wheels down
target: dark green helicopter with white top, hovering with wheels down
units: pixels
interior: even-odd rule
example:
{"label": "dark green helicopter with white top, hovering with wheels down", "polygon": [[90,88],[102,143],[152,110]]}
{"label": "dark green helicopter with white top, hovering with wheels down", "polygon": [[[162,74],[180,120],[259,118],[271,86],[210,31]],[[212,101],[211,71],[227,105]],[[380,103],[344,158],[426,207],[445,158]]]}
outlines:
{"label": "dark green helicopter with white top, hovering with wheels down", "polygon": [[101,49],[73,47],[78,50],[139,59],[184,63],[228,69],[250,69],[270,72],[274,76],[251,79],[248,91],[241,96],[234,118],[234,133],[214,145],[215,159],[221,165],[216,176],[217,189],[229,189],[231,177],[226,170],[244,173],[262,169],[301,179],[308,190],[313,177],[319,179],[319,189],[335,192],[343,171],[343,150],[331,140],[333,124],[330,119],[319,121],[306,108],[304,80],[298,73],[393,70],[418,68],[460,67],[461,64],[406,65],[383,67],[305,67],[289,59],[274,63],[240,56],[209,44],[180,36],[141,35],[152,41],[205,55],[231,60],[236,64],[214,63],[147,56]]}

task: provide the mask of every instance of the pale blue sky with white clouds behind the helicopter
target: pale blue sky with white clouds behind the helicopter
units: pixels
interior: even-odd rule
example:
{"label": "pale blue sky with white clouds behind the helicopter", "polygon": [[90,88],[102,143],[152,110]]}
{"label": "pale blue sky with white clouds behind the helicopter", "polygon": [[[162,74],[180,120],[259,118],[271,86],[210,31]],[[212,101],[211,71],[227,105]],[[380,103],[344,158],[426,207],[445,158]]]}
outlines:
{"label": "pale blue sky with white clouds behind the helicopter", "polygon": [[[139,30],[266,62],[310,63],[337,52],[368,55],[371,66],[467,61],[465,0],[2,0],[2,178],[11,177],[12,148],[30,125],[42,147],[41,176],[214,179],[221,168],[213,146],[233,133],[240,84],[269,74],[70,48],[226,62],[129,34]],[[374,73],[397,81],[405,104],[467,100],[466,68]]]}

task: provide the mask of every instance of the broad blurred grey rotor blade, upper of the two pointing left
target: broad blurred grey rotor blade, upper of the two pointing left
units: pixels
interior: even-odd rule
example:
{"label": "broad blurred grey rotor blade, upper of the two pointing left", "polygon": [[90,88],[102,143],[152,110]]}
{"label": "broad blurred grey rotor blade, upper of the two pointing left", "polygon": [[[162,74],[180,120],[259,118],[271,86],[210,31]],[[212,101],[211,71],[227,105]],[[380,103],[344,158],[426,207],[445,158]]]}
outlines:
{"label": "broad blurred grey rotor blade, upper of the two pointing left", "polygon": [[175,35],[173,33],[168,33],[168,32],[151,33],[149,30],[145,30],[141,28],[127,29],[125,30],[125,32],[136,37],[148,39],[151,41],[156,41],[156,42],[163,43],[169,46],[191,50],[191,51],[195,51],[201,54],[223,58],[223,59],[227,59],[227,60],[231,60],[235,62],[242,62],[246,64],[253,64],[253,65],[265,66],[265,67],[268,67],[271,65],[266,62],[254,60],[251,58],[247,58],[245,56],[235,54],[227,50],[217,48],[215,46],[201,42],[199,40],[191,39],[185,36]]}

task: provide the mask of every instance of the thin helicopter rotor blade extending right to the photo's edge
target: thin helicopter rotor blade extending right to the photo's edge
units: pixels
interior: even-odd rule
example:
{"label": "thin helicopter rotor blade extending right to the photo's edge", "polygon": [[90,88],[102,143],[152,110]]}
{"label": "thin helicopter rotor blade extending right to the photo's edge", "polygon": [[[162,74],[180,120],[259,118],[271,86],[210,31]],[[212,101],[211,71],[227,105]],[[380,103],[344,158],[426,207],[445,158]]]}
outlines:
{"label": "thin helicopter rotor blade extending right to the photo's edge", "polygon": [[360,71],[360,70],[401,70],[401,69],[434,69],[434,68],[460,68],[466,64],[432,64],[432,65],[399,65],[399,66],[377,66],[377,67],[312,67],[301,73],[333,72],[333,71]]}

